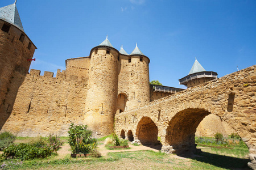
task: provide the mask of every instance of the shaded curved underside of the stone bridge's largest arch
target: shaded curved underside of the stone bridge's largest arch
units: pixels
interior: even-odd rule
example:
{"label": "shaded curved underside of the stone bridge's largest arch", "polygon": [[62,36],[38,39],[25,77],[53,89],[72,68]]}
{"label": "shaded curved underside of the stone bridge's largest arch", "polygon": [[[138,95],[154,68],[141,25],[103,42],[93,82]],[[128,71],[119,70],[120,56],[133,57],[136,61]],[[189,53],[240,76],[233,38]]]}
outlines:
{"label": "shaded curved underside of the stone bridge's largest arch", "polygon": [[166,130],[166,141],[176,154],[187,154],[196,151],[196,128],[210,112],[204,109],[184,109],[175,114]]}

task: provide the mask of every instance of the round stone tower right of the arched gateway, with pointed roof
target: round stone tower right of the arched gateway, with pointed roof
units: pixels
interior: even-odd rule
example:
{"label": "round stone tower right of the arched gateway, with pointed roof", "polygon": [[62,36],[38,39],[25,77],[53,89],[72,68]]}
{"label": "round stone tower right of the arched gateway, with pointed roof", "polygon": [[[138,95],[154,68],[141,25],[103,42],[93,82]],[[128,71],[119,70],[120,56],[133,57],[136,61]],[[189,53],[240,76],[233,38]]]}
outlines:
{"label": "round stone tower right of the arched gateway, with pointed roof", "polygon": [[150,82],[148,63],[150,59],[145,56],[136,44],[129,56],[131,67],[129,78],[129,94],[131,95],[129,109],[141,107],[150,102]]}

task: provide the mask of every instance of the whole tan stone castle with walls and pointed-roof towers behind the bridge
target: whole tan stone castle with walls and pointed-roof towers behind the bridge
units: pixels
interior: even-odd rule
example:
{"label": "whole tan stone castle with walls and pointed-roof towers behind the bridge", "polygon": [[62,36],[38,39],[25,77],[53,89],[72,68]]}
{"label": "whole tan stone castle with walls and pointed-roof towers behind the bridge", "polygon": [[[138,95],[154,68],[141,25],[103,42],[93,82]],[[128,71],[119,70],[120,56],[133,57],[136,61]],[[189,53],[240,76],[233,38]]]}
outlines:
{"label": "whole tan stone castle with walls and pointed-roof towers behind the bridge", "polygon": [[[122,46],[118,51],[108,37],[88,57],[67,59],[66,70],[58,69],[56,77],[33,69],[27,74],[36,46],[24,33],[16,3],[0,8],[0,28],[1,131],[67,135],[75,122],[107,135],[114,131],[115,114],[183,90],[150,86],[150,59],[137,44],[131,54]],[[188,76],[180,82],[191,87],[216,79],[217,73],[205,71],[196,60]]]}

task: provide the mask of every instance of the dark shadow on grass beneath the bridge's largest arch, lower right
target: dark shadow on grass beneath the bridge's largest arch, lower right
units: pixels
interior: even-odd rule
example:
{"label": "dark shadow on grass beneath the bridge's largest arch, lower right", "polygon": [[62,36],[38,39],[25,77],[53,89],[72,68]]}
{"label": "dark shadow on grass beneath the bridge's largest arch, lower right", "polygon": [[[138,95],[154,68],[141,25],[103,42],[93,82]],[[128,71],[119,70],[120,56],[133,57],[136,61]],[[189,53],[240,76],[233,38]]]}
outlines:
{"label": "dark shadow on grass beneath the bridge's largest arch, lower right", "polygon": [[234,158],[230,156],[210,154],[208,152],[201,152],[200,154],[194,155],[191,159],[226,169],[250,169],[247,165],[247,163],[250,162],[250,159]]}

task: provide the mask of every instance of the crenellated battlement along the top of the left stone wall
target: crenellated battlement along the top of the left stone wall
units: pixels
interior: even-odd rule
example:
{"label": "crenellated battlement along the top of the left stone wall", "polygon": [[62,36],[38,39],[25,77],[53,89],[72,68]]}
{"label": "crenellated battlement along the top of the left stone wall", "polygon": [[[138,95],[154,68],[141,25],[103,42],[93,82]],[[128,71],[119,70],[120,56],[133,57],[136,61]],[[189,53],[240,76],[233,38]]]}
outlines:
{"label": "crenellated battlement along the top of the left stone wall", "polygon": [[63,70],[62,72],[60,69],[57,70],[56,77],[53,77],[54,73],[50,71],[44,71],[44,75],[40,75],[40,70],[31,69],[30,73],[27,74],[26,80],[27,81],[43,81],[48,83],[72,83],[76,86],[87,86],[88,78],[79,78],[77,75],[67,75],[66,71]]}

